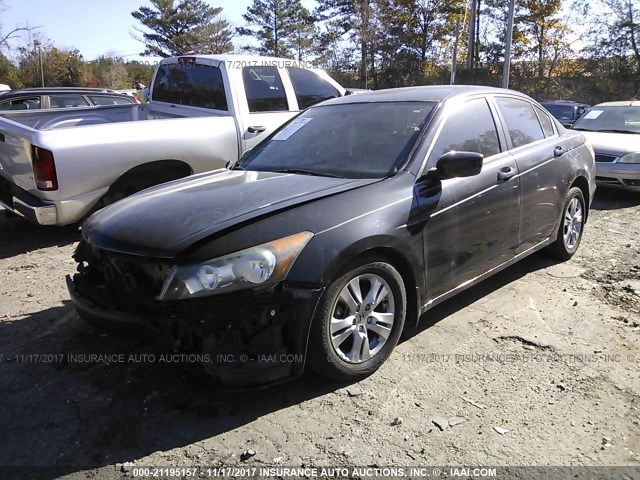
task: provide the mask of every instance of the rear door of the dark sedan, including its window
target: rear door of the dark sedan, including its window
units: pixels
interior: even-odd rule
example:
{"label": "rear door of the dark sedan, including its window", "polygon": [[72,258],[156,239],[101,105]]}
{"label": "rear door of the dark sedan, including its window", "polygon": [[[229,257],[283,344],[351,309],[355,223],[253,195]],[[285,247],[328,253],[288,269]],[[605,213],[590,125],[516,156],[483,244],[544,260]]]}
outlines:
{"label": "rear door of the dark sedan, including its window", "polygon": [[495,102],[520,175],[520,253],[546,240],[558,223],[566,192],[562,184],[569,180],[560,161],[567,145],[549,115],[529,100],[497,96]]}

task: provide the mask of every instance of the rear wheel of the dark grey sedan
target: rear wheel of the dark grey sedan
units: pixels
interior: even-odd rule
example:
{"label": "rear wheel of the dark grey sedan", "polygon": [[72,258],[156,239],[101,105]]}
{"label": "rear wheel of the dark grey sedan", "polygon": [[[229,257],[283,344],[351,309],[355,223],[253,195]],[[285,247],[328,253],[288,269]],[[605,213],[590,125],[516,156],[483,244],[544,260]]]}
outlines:
{"label": "rear wheel of the dark grey sedan", "polygon": [[578,187],[573,187],[567,193],[562,207],[558,236],[546,249],[550,256],[561,261],[566,261],[573,257],[578,251],[582,240],[586,214],[587,206],[582,190]]}

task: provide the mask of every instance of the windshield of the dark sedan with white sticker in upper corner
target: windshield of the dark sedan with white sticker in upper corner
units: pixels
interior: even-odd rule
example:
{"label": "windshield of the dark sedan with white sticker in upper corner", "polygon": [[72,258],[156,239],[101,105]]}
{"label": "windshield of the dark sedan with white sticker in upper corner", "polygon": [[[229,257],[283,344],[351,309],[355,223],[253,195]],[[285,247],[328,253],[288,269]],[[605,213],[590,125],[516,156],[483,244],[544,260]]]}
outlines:
{"label": "windshield of the dark sedan with white sticker in upper corner", "polygon": [[435,104],[376,102],[310,108],[235,168],[345,178],[396,173]]}

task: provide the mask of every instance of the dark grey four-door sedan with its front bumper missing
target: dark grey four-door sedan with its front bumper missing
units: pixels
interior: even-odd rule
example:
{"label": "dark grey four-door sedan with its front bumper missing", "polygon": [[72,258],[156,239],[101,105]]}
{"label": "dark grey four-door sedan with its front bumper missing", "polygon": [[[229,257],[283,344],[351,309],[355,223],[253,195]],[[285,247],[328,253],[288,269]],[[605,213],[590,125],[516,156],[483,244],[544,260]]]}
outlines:
{"label": "dark grey four-door sedan with its front bumper missing", "polygon": [[353,95],[96,212],[67,284],[80,317],[197,353],[223,384],[357,380],[434,305],[574,255],[594,180],[584,136],[520,93]]}

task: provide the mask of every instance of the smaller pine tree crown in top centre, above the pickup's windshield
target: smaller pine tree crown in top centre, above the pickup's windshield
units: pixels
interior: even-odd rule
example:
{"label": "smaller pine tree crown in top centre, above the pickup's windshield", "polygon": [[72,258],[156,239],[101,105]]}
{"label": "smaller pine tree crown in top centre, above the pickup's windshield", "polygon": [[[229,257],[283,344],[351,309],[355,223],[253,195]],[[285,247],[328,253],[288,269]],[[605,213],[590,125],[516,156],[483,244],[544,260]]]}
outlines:
{"label": "smaller pine tree crown in top centre, above the pickup's windshield", "polygon": [[302,36],[312,31],[313,20],[300,0],[253,0],[242,17],[248,26],[238,33],[257,39],[258,53],[290,57],[292,47],[302,55],[310,46]]}

